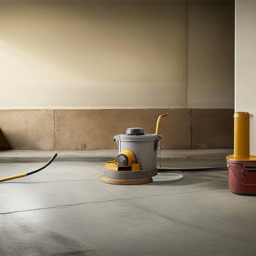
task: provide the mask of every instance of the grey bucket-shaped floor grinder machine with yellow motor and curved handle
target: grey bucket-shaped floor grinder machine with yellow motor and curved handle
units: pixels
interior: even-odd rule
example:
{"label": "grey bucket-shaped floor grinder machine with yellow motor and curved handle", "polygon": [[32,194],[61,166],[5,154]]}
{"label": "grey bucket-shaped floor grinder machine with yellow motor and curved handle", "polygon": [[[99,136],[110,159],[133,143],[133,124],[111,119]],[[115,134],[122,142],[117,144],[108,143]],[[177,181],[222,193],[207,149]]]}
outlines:
{"label": "grey bucket-shaped floor grinder machine with yellow motor and curved handle", "polygon": [[100,181],[118,185],[145,184],[153,181],[158,175],[157,150],[160,141],[158,116],[156,133],[145,133],[143,128],[128,128],[125,134],[114,136],[119,155],[116,160],[105,163],[104,174]]}

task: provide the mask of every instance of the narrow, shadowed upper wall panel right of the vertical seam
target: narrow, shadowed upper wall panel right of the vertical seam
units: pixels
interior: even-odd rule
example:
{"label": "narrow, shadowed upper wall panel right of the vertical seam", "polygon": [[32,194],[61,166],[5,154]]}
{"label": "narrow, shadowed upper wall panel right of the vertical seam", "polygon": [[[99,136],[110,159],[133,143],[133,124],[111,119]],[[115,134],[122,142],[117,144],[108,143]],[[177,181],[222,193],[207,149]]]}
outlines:
{"label": "narrow, shadowed upper wall panel right of the vertical seam", "polygon": [[188,108],[234,108],[234,1],[188,1]]}

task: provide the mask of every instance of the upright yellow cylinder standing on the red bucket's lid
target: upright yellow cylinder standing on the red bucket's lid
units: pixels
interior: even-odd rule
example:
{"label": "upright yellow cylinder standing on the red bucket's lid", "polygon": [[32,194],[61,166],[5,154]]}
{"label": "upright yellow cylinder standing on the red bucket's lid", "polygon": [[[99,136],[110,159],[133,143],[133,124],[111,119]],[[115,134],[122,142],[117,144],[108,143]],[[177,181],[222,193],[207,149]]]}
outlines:
{"label": "upright yellow cylinder standing on the red bucket's lid", "polygon": [[234,113],[234,157],[250,156],[250,114]]}

